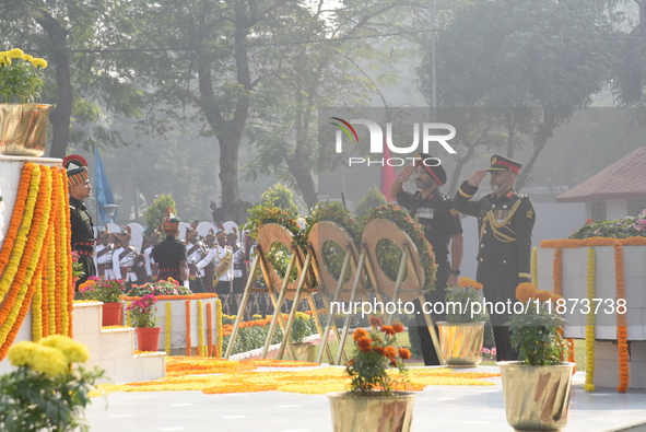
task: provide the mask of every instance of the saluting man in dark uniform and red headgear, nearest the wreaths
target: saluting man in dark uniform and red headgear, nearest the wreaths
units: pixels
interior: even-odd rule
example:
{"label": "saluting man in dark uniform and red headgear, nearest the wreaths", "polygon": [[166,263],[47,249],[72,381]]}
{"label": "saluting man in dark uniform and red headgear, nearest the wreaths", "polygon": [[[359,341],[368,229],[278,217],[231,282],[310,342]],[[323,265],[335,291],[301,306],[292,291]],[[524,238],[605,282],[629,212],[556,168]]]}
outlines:
{"label": "saluting man in dark uniform and red headgear, nearest the wreaths", "polygon": [[[403,189],[403,183],[415,173],[415,185],[420,190],[414,194]],[[444,303],[444,289],[447,283],[457,284],[460,275],[460,264],[463,255],[462,224],[458,212],[454,209],[450,197],[438,189],[446,183],[446,171],[439,160],[421,153],[414,165],[406,166],[390,187],[390,196],[397,197],[397,202],[409,210],[409,214],[424,227],[424,237],[433,246],[435,262],[437,262],[437,279],[435,290],[425,294],[426,302]],[[451,260],[448,260],[450,244]],[[423,311],[415,300],[415,317],[420,335],[424,364],[441,364],[433,341],[426,327]],[[445,314],[432,314],[434,323],[445,320]],[[437,332],[437,326],[436,332]]]}

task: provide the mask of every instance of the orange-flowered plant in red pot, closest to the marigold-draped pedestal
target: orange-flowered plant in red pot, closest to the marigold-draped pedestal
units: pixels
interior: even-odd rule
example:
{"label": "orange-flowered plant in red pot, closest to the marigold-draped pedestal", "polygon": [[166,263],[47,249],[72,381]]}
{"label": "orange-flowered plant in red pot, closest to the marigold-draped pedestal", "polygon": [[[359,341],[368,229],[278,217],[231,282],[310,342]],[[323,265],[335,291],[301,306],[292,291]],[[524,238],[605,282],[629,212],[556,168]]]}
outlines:
{"label": "orange-flowered plant in red pot, closest to the marigold-draped pedestal", "polygon": [[102,326],[120,326],[124,317],[121,296],[125,290],[122,280],[102,280],[91,276],[79,287],[79,300],[103,302]]}

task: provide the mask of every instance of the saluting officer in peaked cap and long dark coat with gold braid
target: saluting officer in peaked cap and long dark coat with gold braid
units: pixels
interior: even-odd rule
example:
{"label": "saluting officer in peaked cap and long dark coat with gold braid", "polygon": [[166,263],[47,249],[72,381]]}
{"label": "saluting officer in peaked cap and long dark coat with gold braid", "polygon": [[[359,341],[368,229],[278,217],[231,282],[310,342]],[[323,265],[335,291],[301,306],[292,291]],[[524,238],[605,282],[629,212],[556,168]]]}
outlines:
{"label": "saluting officer in peaked cap and long dark coat with gold braid", "polygon": [[[531,230],[536,221],[533,205],[528,196],[516,194],[514,184],[522,165],[494,154],[489,170],[479,170],[463,182],[454,197],[456,209],[478,218],[478,282],[482,283],[486,302],[516,301],[516,287],[530,280]],[[480,200],[470,199],[480,182],[491,173],[491,190]],[[505,306],[507,307],[507,306]],[[517,360],[512,349],[505,323],[509,311],[490,311],[498,361]]]}

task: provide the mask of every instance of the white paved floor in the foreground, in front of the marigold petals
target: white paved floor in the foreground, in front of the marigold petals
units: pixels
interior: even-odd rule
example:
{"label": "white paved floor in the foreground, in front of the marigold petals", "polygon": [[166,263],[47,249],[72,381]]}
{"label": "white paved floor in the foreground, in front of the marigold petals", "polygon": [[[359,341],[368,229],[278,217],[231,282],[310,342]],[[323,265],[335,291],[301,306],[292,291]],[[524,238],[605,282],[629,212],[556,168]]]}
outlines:
{"label": "white paved floor in the foreground, in front of the marigold petals", "polygon": [[[269,370],[269,369],[268,369]],[[281,369],[284,370],[284,369]],[[496,372],[480,366],[480,372]],[[465,370],[468,371],[468,370]],[[500,378],[496,386],[430,386],[415,399],[413,430],[507,432]],[[646,431],[646,392],[585,393],[575,375],[565,432]],[[113,393],[86,411],[92,432],[331,432],[326,396],[263,392],[204,395],[201,392]],[[635,424],[643,424],[635,427]]]}

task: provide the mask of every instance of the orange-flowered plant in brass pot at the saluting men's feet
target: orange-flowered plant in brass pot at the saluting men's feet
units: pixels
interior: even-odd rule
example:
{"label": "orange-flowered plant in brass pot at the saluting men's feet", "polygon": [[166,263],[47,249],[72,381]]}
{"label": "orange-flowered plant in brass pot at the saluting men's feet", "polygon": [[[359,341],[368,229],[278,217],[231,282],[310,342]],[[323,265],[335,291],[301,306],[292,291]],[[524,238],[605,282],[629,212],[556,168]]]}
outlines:
{"label": "orange-flowered plant in brass pot at the saluting men's feet", "polygon": [[482,283],[461,277],[445,289],[446,322],[437,323],[442,359],[447,366],[474,367],[482,361],[484,314]]}

